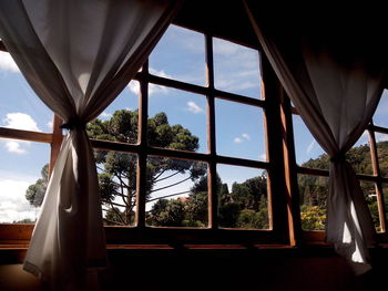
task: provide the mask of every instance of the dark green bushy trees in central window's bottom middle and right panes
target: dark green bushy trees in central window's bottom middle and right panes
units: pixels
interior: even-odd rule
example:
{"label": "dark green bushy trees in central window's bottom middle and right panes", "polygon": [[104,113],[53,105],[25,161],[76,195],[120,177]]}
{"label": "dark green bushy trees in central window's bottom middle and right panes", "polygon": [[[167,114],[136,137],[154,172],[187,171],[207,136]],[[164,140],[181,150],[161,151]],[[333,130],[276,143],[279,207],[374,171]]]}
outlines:
{"label": "dark green bushy trees in central window's bottom middle and right panes", "polygon": [[[247,179],[242,184],[235,183],[232,193],[217,176],[216,189],[221,227],[269,228],[266,176]],[[147,222],[154,226],[205,227],[208,214],[207,199],[207,176],[203,176],[195,183],[187,198],[160,199],[155,202],[149,212]],[[183,212],[176,211],[176,205],[180,206],[178,209],[183,208]],[[176,225],[177,221],[181,225]]]}

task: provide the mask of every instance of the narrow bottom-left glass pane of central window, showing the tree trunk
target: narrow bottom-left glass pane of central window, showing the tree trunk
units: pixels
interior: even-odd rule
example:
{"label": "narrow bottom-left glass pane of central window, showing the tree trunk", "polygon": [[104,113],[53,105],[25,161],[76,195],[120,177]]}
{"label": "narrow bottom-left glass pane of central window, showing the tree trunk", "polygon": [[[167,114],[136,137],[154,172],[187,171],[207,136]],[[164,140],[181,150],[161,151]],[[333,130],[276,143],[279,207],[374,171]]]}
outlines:
{"label": "narrow bottom-left glass pane of central window, showing the tree trunk", "polygon": [[137,156],[94,149],[104,225],[133,226],[136,210]]}

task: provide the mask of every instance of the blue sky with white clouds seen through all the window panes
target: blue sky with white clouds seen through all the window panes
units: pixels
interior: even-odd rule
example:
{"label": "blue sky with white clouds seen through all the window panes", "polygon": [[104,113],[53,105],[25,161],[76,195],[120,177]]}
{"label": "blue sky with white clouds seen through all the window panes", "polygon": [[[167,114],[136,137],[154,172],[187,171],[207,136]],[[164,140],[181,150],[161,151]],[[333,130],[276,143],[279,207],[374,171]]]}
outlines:
{"label": "blue sky with white clouds seen through all the window panes", "polygon": [[[171,25],[150,55],[152,74],[178,81],[205,85],[204,35]],[[259,54],[242,45],[214,39],[215,87],[218,90],[261,98]],[[106,119],[116,110],[139,108],[139,83],[132,81],[118,98],[99,116]],[[149,116],[165,112],[171,125],[181,124],[200,138],[200,153],[207,153],[206,97],[184,91],[150,85]],[[388,126],[388,94],[385,93],[375,115],[375,124]],[[263,110],[235,102],[216,100],[217,154],[255,160],[266,160]],[[18,66],[7,53],[0,52],[0,126],[50,132],[53,114],[35,96]],[[323,154],[300,117],[294,117],[297,163]],[[363,139],[364,138],[364,139]],[[388,139],[379,136],[380,141]],[[358,144],[367,143],[364,135]],[[50,146],[0,138],[0,222],[23,218],[35,219],[39,209],[25,200],[25,189],[40,178],[40,170],[49,162]],[[263,170],[218,165],[218,175],[229,188],[234,181],[242,183],[261,176]],[[165,175],[167,175],[166,173]],[[186,176],[176,176],[178,181]],[[156,185],[155,187],[162,187]],[[159,196],[184,191],[193,186],[191,180],[180,184]],[[150,206],[147,207],[150,208]]]}

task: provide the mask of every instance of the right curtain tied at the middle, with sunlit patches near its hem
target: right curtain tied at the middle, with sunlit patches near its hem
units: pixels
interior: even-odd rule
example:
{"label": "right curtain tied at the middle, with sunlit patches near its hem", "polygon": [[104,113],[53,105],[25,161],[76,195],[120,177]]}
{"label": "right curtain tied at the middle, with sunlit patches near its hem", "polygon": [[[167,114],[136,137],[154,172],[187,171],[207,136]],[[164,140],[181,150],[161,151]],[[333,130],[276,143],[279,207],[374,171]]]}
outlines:
{"label": "right curtain tied at the middle, with sunlit patches near its hem", "polygon": [[327,241],[363,273],[370,269],[375,228],[345,154],[366,129],[382,92],[386,52],[382,38],[376,38],[380,27],[363,21],[363,10],[354,14],[317,4],[306,11],[248,0],[245,7],[285,91],[331,157]]}

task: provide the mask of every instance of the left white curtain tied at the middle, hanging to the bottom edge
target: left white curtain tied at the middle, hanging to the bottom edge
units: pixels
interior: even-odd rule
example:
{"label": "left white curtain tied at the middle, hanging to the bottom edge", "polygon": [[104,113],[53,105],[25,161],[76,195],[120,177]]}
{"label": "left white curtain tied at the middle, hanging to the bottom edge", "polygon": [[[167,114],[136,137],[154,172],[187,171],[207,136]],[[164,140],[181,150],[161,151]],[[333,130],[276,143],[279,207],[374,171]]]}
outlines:
{"label": "left white curtain tied at the middle, hanging to the bottom edge", "polygon": [[106,266],[106,250],[85,124],[134,76],[180,2],[0,1],[1,40],[38,96],[70,129],[24,262],[52,290],[98,288],[93,278]]}

